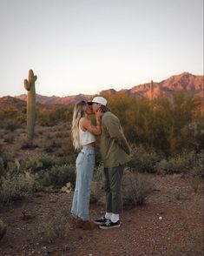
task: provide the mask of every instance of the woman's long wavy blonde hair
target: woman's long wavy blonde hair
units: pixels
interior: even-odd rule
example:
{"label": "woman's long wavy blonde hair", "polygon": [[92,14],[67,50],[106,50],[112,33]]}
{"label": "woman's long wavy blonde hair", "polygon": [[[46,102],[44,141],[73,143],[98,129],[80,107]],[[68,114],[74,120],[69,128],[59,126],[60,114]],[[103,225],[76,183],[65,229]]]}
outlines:
{"label": "woman's long wavy blonde hair", "polygon": [[86,102],[84,100],[75,104],[73,118],[72,118],[72,127],[71,133],[73,138],[73,145],[76,150],[80,150],[82,148],[79,139],[79,121],[86,114]]}

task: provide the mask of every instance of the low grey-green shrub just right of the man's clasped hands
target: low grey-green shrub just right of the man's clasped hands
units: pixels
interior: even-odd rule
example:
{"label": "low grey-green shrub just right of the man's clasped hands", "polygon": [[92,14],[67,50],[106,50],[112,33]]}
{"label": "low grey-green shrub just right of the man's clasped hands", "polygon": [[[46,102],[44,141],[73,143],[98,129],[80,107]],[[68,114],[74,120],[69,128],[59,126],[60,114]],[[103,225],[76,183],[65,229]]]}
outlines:
{"label": "low grey-green shrub just right of the man's clasped hands", "polygon": [[160,160],[156,152],[145,150],[142,146],[134,147],[132,150],[132,160],[128,164],[137,172],[155,172],[154,166]]}

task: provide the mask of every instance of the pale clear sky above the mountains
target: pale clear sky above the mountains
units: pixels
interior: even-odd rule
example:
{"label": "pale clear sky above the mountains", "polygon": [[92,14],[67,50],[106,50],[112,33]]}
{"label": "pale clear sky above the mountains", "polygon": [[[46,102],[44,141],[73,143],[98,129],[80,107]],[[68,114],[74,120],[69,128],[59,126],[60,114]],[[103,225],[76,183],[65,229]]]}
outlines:
{"label": "pale clear sky above the mountains", "polygon": [[0,0],[0,97],[95,94],[203,75],[202,0]]}

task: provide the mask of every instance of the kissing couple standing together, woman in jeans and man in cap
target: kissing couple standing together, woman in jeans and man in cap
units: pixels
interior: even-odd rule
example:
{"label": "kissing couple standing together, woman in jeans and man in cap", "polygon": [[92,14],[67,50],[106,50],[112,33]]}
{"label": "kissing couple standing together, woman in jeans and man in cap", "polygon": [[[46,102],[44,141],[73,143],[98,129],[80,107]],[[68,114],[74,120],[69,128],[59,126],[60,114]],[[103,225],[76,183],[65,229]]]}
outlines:
{"label": "kissing couple standing together, woman in jeans and man in cap", "polygon": [[[88,116],[95,114],[96,125]],[[100,152],[104,165],[106,212],[101,219],[89,221],[90,186],[95,168],[95,136],[100,136]],[[80,150],[76,158],[76,188],[71,213],[78,228],[96,226],[109,229],[121,226],[122,175],[130,160],[130,149],[119,119],[107,107],[107,100],[95,97],[91,102],[75,105],[72,121],[73,144]]]}

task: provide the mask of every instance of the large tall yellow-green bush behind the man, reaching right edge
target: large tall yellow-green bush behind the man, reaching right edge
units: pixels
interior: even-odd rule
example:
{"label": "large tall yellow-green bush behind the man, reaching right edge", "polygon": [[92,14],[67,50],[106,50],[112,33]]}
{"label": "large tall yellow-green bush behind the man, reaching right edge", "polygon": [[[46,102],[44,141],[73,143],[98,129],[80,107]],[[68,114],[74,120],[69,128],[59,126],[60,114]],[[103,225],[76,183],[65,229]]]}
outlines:
{"label": "large tall yellow-green bush behind the man, reaching right edge", "polygon": [[161,96],[151,103],[127,92],[109,95],[103,91],[101,95],[121,120],[130,143],[154,148],[165,157],[203,149],[201,98],[176,91],[173,98]]}

